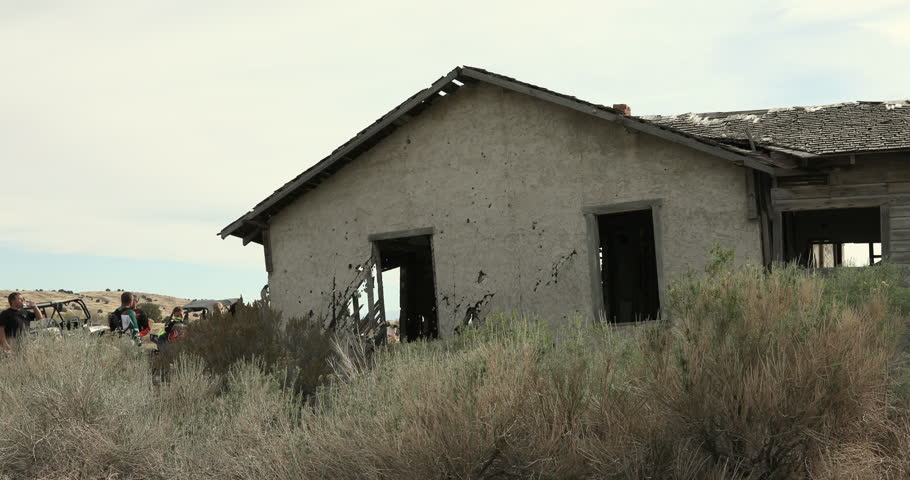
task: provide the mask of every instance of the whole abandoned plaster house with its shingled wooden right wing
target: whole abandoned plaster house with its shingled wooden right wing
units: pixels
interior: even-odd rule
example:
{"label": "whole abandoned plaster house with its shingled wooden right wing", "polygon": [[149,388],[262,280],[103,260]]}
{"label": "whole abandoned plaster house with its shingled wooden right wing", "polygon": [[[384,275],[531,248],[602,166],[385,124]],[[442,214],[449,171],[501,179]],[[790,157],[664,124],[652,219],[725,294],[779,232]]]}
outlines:
{"label": "whole abandoned plaster house with its shingled wooden right wing", "polygon": [[263,245],[273,306],[327,324],[634,322],[715,244],[910,263],[910,104],[636,117],[460,67],[220,235]]}

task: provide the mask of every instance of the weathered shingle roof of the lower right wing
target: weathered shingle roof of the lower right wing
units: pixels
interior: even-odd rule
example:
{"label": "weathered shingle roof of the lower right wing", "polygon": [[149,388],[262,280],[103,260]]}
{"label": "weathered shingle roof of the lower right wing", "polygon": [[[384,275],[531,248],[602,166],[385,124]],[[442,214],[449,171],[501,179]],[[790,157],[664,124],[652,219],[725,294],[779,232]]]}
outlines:
{"label": "weathered shingle roof of the lower right wing", "polygon": [[699,138],[797,157],[910,149],[910,101],[649,116]]}

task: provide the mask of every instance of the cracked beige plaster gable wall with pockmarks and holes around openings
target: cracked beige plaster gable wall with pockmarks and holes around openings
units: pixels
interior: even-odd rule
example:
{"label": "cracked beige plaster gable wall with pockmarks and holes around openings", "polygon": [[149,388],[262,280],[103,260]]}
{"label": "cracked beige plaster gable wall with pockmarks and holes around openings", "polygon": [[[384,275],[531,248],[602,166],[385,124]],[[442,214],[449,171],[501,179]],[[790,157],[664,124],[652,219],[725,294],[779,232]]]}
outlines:
{"label": "cracked beige plaster gable wall with pockmarks and holes around openings", "polygon": [[271,298],[285,314],[327,318],[370,256],[367,235],[433,227],[441,335],[470,308],[590,317],[582,207],[662,199],[668,280],[701,268],[714,242],[760,262],[745,176],[612,122],[466,85],[271,219]]}

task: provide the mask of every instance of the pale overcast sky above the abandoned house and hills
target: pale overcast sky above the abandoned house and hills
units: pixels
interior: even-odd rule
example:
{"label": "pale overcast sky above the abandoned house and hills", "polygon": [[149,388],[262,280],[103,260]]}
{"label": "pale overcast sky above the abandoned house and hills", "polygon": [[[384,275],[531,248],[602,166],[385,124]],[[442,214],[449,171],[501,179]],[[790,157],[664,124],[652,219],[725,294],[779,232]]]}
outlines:
{"label": "pale overcast sky above the abandoned house and hills", "polygon": [[910,97],[902,0],[0,0],[0,289],[258,295],[216,233],[456,65],[633,114]]}

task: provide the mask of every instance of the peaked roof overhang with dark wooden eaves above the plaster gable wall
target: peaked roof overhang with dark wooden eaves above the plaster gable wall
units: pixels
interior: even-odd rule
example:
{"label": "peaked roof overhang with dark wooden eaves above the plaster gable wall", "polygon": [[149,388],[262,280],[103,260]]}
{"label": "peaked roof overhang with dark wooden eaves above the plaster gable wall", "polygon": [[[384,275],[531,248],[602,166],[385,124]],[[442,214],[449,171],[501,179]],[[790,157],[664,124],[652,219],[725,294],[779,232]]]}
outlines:
{"label": "peaked roof overhang with dark wooden eaves above the plaster gable wall", "polygon": [[767,173],[771,173],[773,167],[776,166],[768,158],[736,145],[728,145],[712,138],[697,136],[674,126],[664,125],[646,118],[625,116],[623,112],[605,105],[587,102],[480,68],[456,67],[446,76],[417,92],[373,122],[369,127],[361,130],[354,138],[336,148],[329,156],[323,158],[278,190],[275,190],[274,193],[259,202],[252,210],[224,227],[219,235],[221,235],[221,238],[227,238],[228,236],[240,237],[243,239],[244,245],[250,242],[262,243],[262,230],[268,227],[267,222],[271,215],[274,215],[306,192],[317,188],[326,178],[332,176],[344,165],[372,148],[433,103],[454,94],[463,85],[474,82],[495,85],[604,120],[617,122],[628,129],[686,145],[729,160],[737,165],[748,166]]}

